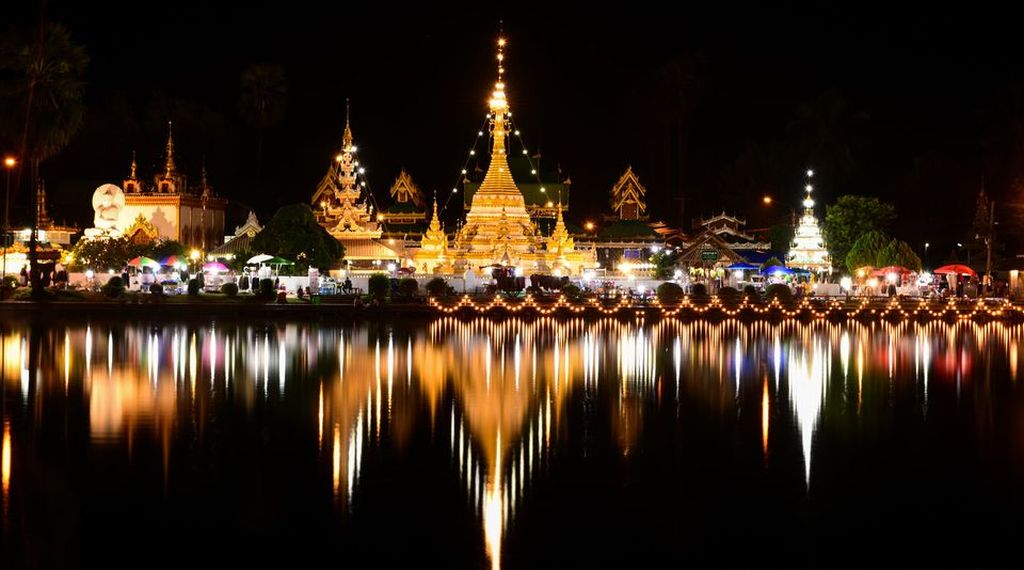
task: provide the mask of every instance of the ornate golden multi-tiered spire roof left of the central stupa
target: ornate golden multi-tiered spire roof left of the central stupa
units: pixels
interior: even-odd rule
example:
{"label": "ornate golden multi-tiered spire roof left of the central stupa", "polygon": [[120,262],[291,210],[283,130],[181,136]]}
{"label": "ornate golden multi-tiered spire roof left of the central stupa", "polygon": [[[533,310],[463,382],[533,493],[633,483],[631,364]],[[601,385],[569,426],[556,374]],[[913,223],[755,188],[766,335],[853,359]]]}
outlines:
{"label": "ornate golden multi-tiered spire roof left of the central stupa", "polygon": [[381,236],[381,228],[374,218],[373,206],[359,189],[366,187],[366,182],[358,180],[358,175],[362,172],[362,167],[355,160],[355,144],[352,143],[352,129],[346,102],[341,152],[328,168],[311,200],[316,221],[331,235],[342,242],[375,239]]}

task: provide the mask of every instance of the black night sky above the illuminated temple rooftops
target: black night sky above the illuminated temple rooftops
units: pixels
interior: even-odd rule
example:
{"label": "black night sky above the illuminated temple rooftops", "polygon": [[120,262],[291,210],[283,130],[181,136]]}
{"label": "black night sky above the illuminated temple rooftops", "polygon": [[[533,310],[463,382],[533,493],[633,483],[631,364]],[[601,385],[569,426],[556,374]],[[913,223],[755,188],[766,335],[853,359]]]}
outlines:
{"label": "black night sky above the illuminated temple rooftops", "polygon": [[[37,17],[24,4],[15,26]],[[308,200],[340,144],[346,97],[378,200],[401,167],[443,195],[483,119],[501,18],[513,113],[530,152],[571,177],[571,219],[605,213],[633,165],[655,218],[688,229],[725,209],[763,227],[798,206],[814,167],[819,204],[841,193],[891,201],[894,233],[944,255],[968,231],[983,183],[997,203],[1020,200],[1024,69],[1009,13],[859,3],[444,11],[50,3],[47,17],[91,58],[86,123],[44,165],[51,216],[88,225],[91,191],[120,182],[132,149],[151,176],[173,119],[180,167],[198,179],[205,157],[217,191],[238,203],[228,225],[248,209],[266,218]],[[257,181],[239,94],[241,72],[259,62],[286,68],[289,102],[266,131]],[[764,193],[776,199],[770,210]]]}

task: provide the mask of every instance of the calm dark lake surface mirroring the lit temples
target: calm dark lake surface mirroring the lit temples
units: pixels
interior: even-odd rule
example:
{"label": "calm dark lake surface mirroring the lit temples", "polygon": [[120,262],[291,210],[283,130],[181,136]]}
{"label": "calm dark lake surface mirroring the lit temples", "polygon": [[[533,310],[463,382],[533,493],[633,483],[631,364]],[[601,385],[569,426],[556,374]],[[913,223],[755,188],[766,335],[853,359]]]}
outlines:
{"label": "calm dark lake surface mirroring the lit temples", "polygon": [[1024,330],[4,323],[7,567],[993,564]]}

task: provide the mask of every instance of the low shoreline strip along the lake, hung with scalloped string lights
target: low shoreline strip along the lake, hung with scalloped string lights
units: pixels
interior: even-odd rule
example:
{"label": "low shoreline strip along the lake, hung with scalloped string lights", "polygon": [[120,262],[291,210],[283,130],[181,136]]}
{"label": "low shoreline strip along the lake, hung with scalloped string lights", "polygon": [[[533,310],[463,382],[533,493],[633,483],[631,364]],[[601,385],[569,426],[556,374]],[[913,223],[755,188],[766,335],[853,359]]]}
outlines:
{"label": "low shoreline strip along the lake, hung with scalloped string lights", "polygon": [[721,321],[777,321],[790,318],[801,320],[855,320],[918,321],[942,320],[954,322],[1024,322],[1024,306],[1006,300],[989,301],[931,301],[852,299],[791,303],[723,303],[718,298],[694,303],[684,300],[679,305],[660,306],[656,301],[646,305],[617,303],[603,305],[596,300],[573,304],[559,298],[550,303],[524,301],[508,302],[503,299],[474,301],[463,297],[454,302],[430,299],[420,303],[388,303],[380,307],[354,307],[341,303],[261,303],[255,301],[198,301],[175,303],[145,303],[132,301],[4,301],[0,302],[0,319],[47,317],[57,320],[91,318],[126,318],[155,320],[193,319],[278,319],[289,320],[366,320],[381,318],[434,319],[449,316],[459,318],[486,317],[509,318],[618,318],[659,320]]}

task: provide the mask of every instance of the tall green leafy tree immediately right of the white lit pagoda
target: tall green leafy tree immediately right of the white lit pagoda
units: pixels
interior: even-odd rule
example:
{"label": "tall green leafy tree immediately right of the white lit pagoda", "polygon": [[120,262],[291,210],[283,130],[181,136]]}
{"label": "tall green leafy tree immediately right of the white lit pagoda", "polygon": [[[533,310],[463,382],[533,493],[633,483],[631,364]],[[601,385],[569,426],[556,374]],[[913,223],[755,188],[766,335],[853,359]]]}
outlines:
{"label": "tall green leafy tree immediately right of the white lit pagoda", "polygon": [[850,248],[868,231],[885,232],[896,219],[896,208],[877,198],[841,195],[825,208],[822,230],[834,260],[845,260]]}

